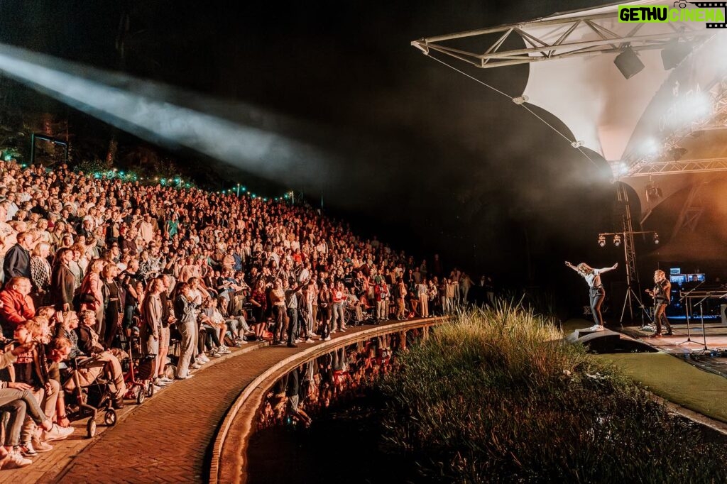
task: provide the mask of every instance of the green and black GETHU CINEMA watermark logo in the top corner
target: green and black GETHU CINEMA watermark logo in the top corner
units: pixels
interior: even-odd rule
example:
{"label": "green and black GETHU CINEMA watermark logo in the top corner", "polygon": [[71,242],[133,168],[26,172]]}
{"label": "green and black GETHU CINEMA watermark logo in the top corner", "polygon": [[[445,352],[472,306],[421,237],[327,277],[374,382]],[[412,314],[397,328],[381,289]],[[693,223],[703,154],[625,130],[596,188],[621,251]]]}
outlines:
{"label": "green and black GETHU CINEMA watermark logo in the top corner", "polygon": [[672,7],[619,5],[619,23],[701,22],[707,28],[727,28],[726,13],[727,1],[675,1]]}

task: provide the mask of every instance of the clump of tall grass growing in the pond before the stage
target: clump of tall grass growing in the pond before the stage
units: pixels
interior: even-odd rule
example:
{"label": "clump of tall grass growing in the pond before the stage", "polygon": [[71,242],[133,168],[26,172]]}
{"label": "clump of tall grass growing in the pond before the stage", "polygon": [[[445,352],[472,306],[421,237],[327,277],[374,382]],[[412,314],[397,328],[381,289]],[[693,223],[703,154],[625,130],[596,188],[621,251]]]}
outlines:
{"label": "clump of tall grass growing in the pond before the stage", "polygon": [[454,316],[381,389],[387,445],[446,482],[727,482],[727,452],[517,304]]}

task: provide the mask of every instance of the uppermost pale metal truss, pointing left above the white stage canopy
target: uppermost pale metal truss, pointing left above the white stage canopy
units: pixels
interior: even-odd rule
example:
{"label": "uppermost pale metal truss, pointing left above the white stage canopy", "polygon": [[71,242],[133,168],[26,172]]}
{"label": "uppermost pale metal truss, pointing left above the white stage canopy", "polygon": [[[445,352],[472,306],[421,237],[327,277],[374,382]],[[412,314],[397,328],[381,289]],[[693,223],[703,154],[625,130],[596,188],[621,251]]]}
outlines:
{"label": "uppermost pale metal truss, pointing left above the white stage canopy", "polygon": [[[611,31],[602,25],[604,21],[612,23],[618,20],[617,12],[603,13],[599,15],[583,15],[581,17],[568,17],[548,20],[547,17],[531,20],[530,22],[500,25],[499,27],[483,28],[475,31],[467,31],[460,33],[451,33],[443,36],[425,37],[419,40],[411,41],[411,45],[417,47],[429,55],[430,51],[441,52],[458,60],[462,60],[478,68],[495,68],[506,65],[529,64],[532,62],[542,62],[546,60],[558,60],[566,57],[582,57],[585,55],[605,54],[608,52],[621,52],[627,45],[635,51],[649,49],[663,49],[665,44],[670,41],[680,39],[682,41],[691,41],[699,37],[708,37],[714,35],[713,31],[705,28],[696,28],[695,25],[688,23],[672,23],[659,24],[669,25],[671,31],[661,33],[641,33],[640,30],[646,23],[633,24],[634,27],[626,35],[620,35]],[[537,36],[527,32],[528,27],[552,26],[558,28],[563,26],[565,31],[556,41],[545,41]],[[600,39],[584,41],[582,33],[574,32],[579,27],[587,27]],[[701,25],[700,25],[701,26]],[[469,52],[463,49],[457,49],[442,42],[453,41],[457,39],[467,39],[471,37],[482,36],[498,36],[494,42],[489,39],[483,39],[483,52]],[[506,41],[510,36],[519,36],[525,41],[524,49],[503,49]]]}

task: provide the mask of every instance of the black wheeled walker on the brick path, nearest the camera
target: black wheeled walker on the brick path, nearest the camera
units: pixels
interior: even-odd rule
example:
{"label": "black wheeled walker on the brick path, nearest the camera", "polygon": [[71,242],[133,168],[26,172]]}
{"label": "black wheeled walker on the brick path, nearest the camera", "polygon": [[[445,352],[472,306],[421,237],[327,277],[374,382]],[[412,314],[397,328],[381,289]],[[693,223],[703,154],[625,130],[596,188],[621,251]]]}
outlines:
{"label": "black wheeled walker on the brick path, nearest the camera", "polygon": [[86,424],[87,437],[96,435],[96,417],[99,411],[103,411],[103,422],[108,427],[116,425],[116,410],[112,407],[113,394],[109,388],[109,382],[103,374],[97,376],[92,382],[81,382],[81,372],[84,368],[93,368],[104,365],[99,358],[80,357],[71,360],[73,372],[70,376],[73,379],[73,391],[66,398],[69,406],[68,419],[81,420],[89,417]]}

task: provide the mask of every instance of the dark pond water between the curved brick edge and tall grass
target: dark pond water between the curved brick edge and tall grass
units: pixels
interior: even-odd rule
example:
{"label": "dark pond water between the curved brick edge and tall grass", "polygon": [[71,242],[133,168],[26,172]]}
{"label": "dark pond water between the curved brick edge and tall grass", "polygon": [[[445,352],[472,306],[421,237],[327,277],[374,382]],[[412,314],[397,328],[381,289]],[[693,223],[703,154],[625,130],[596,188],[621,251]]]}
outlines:
{"label": "dark pond water between the curved brick edge and tall grass", "polygon": [[[268,392],[247,451],[248,483],[425,483],[413,459],[382,439],[384,400],[373,382],[409,331],[352,344],[305,363]],[[297,399],[297,401],[296,401]]]}

